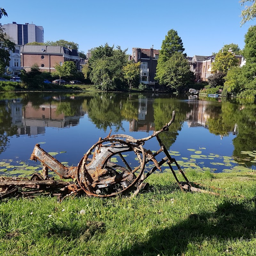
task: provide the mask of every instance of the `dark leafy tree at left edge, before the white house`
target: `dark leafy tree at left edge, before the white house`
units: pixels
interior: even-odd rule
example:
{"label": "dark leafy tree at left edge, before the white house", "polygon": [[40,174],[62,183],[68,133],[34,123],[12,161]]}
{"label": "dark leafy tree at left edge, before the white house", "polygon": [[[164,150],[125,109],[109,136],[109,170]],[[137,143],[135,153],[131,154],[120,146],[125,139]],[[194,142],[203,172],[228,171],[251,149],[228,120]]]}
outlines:
{"label": "dark leafy tree at left edge, before the white house", "polygon": [[9,50],[15,51],[15,43],[10,41],[4,33],[4,29],[0,24],[0,74],[3,74],[6,66],[9,66],[10,54]]}

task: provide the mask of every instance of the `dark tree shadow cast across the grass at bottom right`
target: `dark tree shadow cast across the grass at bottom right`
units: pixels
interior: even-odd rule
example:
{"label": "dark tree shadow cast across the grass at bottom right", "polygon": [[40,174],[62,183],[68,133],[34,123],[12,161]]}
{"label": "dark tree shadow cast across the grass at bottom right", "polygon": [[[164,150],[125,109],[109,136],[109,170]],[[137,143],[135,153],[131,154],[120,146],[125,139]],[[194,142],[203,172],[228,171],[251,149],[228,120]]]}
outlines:
{"label": "dark tree shadow cast across the grass at bottom right", "polygon": [[239,204],[227,200],[219,204],[216,211],[191,213],[175,226],[150,230],[147,240],[132,244],[119,255],[184,255],[186,252],[186,255],[201,255],[200,247],[211,239],[219,244],[220,250],[220,254],[213,255],[222,255],[227,241],[241,237],[251,239],[255,227],[255,198]]}

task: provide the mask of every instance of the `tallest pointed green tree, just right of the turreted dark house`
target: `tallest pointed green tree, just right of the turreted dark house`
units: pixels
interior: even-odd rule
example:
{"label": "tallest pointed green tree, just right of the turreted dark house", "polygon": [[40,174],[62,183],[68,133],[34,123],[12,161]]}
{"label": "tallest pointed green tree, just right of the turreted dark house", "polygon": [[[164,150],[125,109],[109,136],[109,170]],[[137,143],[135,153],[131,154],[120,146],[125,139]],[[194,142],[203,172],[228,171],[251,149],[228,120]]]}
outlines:
{"label": "tallest pointed green tree, just right of the turreted dark house", "polygon": [[[180,78],[182,83],[187,83],[191,74],[189,74],[188,61],[186,64],[184,61],[186,56],[186,54],[183,54],[184,50],[182,40],[177,31],[174,29],[169,30],[162,42],[156,66],[156,79],[159,80],[160,84],[169,85],[177,89],[181,85],[178,82]],[[175,72],[178,73],[176,74]],[[184,72],[183,75],[181,74],[182,72]]]}

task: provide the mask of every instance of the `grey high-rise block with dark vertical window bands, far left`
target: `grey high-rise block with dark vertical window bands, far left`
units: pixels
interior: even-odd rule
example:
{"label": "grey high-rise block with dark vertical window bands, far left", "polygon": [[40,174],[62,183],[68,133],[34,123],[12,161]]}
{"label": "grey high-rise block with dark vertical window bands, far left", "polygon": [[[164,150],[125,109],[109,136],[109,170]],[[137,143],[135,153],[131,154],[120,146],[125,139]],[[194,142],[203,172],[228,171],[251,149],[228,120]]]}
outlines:
{"label": "grey high-rise block with dark vertical window bands, far left", "polygon": [[4,24],[2,27],[5,29],[4,32],[14,40],[15,44],[44,43],[44,28],[42,26],[12,22]]}

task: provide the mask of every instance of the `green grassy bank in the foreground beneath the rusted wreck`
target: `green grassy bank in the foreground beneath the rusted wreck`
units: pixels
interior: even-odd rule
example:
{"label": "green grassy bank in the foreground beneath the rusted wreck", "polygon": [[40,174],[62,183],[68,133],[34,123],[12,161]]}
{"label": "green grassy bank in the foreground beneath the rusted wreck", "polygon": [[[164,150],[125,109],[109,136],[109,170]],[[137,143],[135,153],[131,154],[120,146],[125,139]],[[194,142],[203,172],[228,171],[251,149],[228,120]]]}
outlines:
{"label": "green grassy bank in the foreground beneath the rusted wreck", "polygon": [[0,255],[256,255],[256,173],[187,176],[221,196],[181,192],[163,173],[134,198],[2,201]]}

